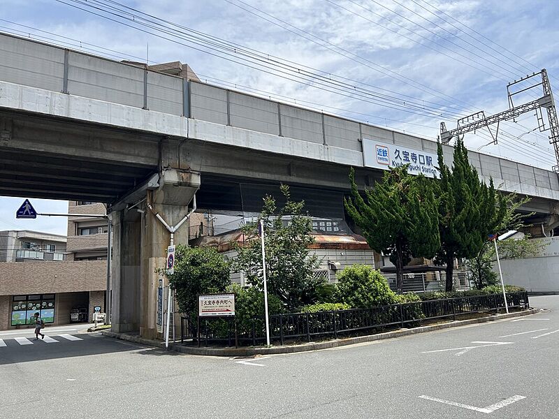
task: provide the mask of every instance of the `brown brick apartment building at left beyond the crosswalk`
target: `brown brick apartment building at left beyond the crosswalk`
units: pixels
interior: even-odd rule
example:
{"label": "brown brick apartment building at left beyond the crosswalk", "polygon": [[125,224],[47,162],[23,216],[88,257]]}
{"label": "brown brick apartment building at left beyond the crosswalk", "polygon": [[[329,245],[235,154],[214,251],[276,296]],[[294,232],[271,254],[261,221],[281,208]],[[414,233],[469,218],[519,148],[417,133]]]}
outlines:
{"label": "brown brick apartment building at left beyond the crosswalk", "polygon": [[[71,202],[70,214],[105,214],[102,204]],[[107,222],[68,217],[68,237],[29,230],[0,232],[0,330],[89,321],[104,311]],[[78,311],[78,318],[75,312]]]}

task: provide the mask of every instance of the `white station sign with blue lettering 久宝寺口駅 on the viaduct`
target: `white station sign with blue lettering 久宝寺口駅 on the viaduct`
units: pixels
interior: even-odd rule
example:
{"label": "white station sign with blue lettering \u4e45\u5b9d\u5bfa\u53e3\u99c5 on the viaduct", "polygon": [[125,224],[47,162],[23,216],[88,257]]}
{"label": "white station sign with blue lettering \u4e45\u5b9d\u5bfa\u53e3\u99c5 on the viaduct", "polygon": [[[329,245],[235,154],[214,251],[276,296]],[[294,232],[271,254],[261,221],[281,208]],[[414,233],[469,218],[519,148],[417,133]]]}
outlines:
{"label": "white station sign with blue lettering \u4e45\u5b9d\u5bfa\u53e3\u99c5 on the viaduct", "polygon": [[409,164],[407,172],[440,177],[437,154],[363,138],[363,163],[368,168],[389,170]]}

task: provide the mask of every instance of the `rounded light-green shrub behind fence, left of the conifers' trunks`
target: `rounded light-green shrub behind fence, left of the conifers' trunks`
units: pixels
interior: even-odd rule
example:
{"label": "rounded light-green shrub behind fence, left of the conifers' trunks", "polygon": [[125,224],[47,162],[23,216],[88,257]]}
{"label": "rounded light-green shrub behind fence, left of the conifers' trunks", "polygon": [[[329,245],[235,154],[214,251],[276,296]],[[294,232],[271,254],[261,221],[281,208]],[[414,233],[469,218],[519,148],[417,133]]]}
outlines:
{"label": "rounded light-green shrub behind fence, left of the conifers' trunks", "polygon": [[386,278],[368,265],[348,266],[337,279],[337,301],[355,309],[389,305],[395,301],[395,293]]}

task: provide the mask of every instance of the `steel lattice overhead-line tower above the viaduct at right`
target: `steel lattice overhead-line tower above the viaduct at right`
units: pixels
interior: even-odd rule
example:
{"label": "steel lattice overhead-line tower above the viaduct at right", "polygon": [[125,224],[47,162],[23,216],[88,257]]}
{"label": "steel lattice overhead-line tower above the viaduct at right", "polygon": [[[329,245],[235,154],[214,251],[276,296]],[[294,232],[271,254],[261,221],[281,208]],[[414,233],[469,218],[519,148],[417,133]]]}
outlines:
{"label": "steel lattice overhead-line tower above the viaduct at right", "polygon": [[[532,80],[537,78],[537,76],[542,76],[542,81]],[[518,84],[525,81],[533,82],[528,87],[524,87],[514,91]],[[514,105],[513,98],[517,94],[523,92],[528,92],[531,89],[535,89],[538,86],[542,86],[543,96],[535,99],[534,101],[523,103],[521,105]],[[514,119],[525,112],[531,112],[535,110],[537,115],[538,128],[540,132],[550,131],[549,133],[549,143],[553,144],[553,149],[555,150],[556,166],[553,166],[553,172],[559,173],[559,122],[557,119],[557,112],[555,107],[555,101],[553,101],[553,94],[551,93],[551,84],[549,84],[549,78],[547,77],[546,69],[542,69],[538,73],[533,73],[532,75],[527,75],[520,80],[514,80],[507,84],[507,94],[509,96],[509,109],[499,112],[498,114],[491,115],[489,117],[485,116],[484,111],[475,112],[472,115],[458,119],[458,124],[456,129],[447,131],[447,126],[444,122],[441,122],[441,133],[440,140],[443,144],[448,144],[453,137],[459,137],[465,133],[475,131],[479,128],[486,127],[491,133],[491,138],[493,138],[493,144],[497,144],[497,137],[499,134],[499,123],[501,121],[508,121],[509,119]],[[549,126],[546,127],[544,123],[544,117],[542,115],[542,108],[547,110],[547,119]],[[490,125],[497,124],[497,129],[493,134]]]}

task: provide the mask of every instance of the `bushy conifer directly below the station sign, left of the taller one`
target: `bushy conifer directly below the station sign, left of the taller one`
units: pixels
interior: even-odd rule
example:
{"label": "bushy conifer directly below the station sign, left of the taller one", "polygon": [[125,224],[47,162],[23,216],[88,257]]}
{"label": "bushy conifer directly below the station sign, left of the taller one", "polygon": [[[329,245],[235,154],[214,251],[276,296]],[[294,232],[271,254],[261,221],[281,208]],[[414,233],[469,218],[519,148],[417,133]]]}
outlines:
{"label": "bushy conifer directly below the station sign, left of the taller one", "polygon": [[412,256],[433,258],[440,247],[434,181],[410,175],[407,166],[391,168],[375,189],[365,190],[366,202],[357,189],[353,168],[349,182],[351,198],[344,199],[346,210],[369,246],[390,256],[401,292],[404,267]]}

